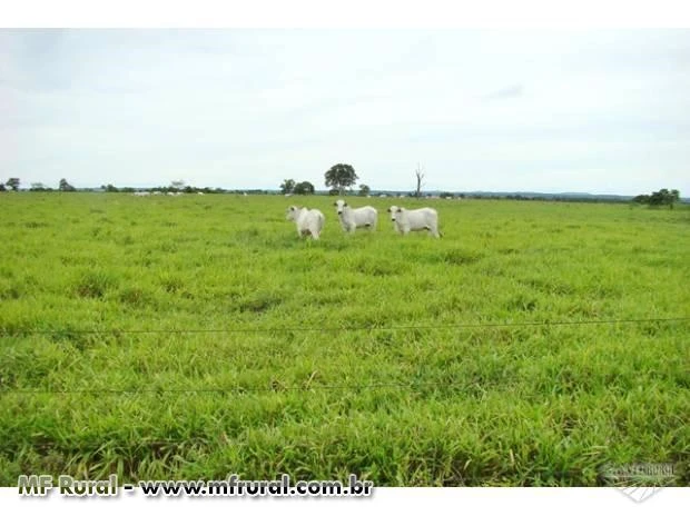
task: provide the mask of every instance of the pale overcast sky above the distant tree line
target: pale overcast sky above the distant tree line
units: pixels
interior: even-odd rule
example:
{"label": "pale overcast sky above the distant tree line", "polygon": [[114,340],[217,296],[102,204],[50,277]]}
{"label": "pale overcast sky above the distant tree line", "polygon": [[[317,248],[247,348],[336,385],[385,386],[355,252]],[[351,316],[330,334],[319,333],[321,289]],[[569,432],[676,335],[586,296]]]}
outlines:
{"label": "pale overcast sky above the distant tree line", "polygon": [[22,186],[690,195],[690,31],[0,30]]}

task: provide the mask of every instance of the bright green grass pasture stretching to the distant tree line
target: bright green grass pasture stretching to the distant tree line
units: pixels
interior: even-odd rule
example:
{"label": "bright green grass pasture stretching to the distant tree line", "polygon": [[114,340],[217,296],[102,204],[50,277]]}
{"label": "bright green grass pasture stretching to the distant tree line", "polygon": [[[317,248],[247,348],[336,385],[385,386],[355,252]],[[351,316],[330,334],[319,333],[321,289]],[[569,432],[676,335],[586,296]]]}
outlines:
{"label": "bright green grass pasture stretching to the distant tree line", "polygon": [[690,483],[690,210],[405,200],[436,240],[333,200],[0,195],[0,484]]}

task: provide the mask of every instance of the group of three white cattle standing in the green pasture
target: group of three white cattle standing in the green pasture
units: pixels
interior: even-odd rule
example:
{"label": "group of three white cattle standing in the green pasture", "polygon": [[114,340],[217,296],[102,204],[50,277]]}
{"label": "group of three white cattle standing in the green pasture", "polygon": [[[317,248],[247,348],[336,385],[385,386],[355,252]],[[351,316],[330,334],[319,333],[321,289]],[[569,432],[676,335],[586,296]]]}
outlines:
{"label": "group of three white cattle standing in the green pasture", "polygon": [[[368,228],[371,231],[376,230],[376,222],[378,220],[376,208],[372,206],[353,208],[343,199],[335,201],[334,206],[343,231],[355,232],[357,228]],[[407,235],[410,231],[426,230],[436,238],[441,237],[438,231],[438,212],[433,208],[408,210],[403,207],[392,206],[387,211],[391,214],[391,221],[395,230],[401,235]],[[287,220],[292,220],[297,225],[297,235],[299,237],[312,236],[314,240],[318,240],[326,224],[324,214],[317,209],[290,206],[285,215]]]}

